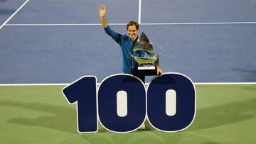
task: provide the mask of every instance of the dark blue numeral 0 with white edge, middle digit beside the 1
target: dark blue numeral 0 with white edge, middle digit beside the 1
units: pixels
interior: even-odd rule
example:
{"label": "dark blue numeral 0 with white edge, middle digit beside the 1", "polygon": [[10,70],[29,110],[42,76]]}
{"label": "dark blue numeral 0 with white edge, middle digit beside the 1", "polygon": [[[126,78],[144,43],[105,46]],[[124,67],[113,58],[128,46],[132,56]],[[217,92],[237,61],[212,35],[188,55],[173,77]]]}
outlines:
{"label": "dark blue numeral 0 with white edge, middle digit beside the 1", "polygon": [[98,90],[102,126],[117,133],[136,130],[146,118],[146,89],[129,74],[114,74],[102,81]]}

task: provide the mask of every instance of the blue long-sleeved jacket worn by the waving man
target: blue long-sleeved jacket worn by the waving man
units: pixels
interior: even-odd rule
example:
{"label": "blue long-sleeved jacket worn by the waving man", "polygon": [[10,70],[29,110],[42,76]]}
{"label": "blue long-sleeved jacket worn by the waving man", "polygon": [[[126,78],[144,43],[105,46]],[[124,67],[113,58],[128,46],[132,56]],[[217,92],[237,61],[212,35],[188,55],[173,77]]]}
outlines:
{"label": "blue long-sleeved jacket worn by the waving man", "polygon": [[[126,74],[132,74],[132,57],[131,54],[134,56],[143,57],[144,52],[136,52],[133,53],[132,48],[134,47],[134,44],[137,42],[136,40],[132,40],[127,35],[121,35],[119,33],[116,33],[113,31],[110,26],[107,26],[107,28],[104,28],[107,35],[110,35],[111,38],[113,38],[114,41],[116,41],[122,50],[122,57],[123,57],[123,69],[122,71]],[[133,64],[134,65],[134,64]]]}

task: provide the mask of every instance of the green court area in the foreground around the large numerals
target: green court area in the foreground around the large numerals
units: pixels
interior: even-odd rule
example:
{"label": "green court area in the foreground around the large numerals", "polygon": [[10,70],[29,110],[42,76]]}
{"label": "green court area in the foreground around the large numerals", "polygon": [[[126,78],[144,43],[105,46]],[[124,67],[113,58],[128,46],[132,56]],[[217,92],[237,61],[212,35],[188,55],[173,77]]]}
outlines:
{"label": "green court area in the foreground around the large numerals", "polygon": [[1,86],[0,143],[255,143],[256,84],[196,85],[196,118],[177,133],[77,132],[64,86]]}

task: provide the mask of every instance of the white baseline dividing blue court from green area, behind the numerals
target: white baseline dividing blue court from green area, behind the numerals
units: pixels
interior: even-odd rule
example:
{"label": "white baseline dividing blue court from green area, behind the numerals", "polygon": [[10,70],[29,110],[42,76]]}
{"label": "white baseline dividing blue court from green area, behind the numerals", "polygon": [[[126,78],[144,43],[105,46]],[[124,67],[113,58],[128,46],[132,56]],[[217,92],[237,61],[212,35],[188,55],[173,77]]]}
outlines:
{"label": "white baseline dividing blue court from green area, behind the numerals", "polygon": [[[53,83],[53,84],[0,84],[1,86],[67,86],[71,83]],[[146,85],[149,85],[149,83],[145,83]],[[196,85],[239,85],[239,84],[256,84],[256,82],[194,82],[193,84]],[[100,83],[97,83],[97,85],[100,85]]]}

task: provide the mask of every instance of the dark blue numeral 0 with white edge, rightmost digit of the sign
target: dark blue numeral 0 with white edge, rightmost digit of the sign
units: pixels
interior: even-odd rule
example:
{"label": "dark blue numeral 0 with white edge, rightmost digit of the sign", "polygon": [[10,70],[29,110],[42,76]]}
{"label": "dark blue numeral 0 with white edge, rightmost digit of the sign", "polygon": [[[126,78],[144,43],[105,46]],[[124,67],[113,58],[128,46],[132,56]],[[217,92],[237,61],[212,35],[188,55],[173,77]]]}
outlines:
{"label": "dark blue numeral 0 with white edge, rightmost digit of the sign", "polygon": [[196,90],[183,74],[167,73],[153,79],[147,89],[147,116],[151,126],[164,132],[187,128],[196,114]]}

